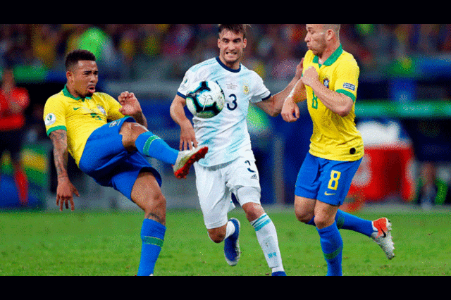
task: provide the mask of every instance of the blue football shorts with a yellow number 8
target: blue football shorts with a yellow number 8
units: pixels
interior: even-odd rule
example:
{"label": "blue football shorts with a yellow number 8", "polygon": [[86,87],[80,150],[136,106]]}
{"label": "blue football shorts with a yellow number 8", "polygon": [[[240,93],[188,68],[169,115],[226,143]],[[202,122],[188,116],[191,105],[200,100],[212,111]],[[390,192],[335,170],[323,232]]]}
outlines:
{"label": "blue football shorts with a yellow number 8", "polygon": [[297,174],[295,195],[343,204],[361,161],[330,161],[307,153]]}

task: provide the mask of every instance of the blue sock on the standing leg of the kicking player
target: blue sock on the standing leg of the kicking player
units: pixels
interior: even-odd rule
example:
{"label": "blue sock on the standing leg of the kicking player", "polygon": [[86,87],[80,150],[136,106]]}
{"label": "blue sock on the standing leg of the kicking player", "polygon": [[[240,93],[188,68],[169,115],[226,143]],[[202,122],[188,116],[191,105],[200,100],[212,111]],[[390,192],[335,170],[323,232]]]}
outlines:
{"label": "blue sock on the standing leg of the kicking player", "polygon": [[161,246],[163,246],[165,232],[166,226],[161,223],[150,219],[144,219],[142,222],[142,248],[138,276],[149,276],[154,273],[155,263],[160,255]]}

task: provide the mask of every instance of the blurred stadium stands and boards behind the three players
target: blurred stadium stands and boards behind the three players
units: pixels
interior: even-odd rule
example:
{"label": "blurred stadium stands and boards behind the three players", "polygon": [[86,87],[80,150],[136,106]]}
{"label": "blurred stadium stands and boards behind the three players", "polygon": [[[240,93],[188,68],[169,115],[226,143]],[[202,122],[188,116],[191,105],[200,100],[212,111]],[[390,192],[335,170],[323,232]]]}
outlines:
{"label": "blurred stadium stands and boards behind the three players", "polygon": [[[259,73],[271,92],[279,92],[307,51],[305,33],[303,24],[254,24],[243,64]],[[23,149],[29,207],[57,209],[56,175],[42,109],[66,82],[68,51],[94,52],[100,71],[98,90],[112,96],[124,90],[135,92],[149,130],[178,148],[180,130],[168,108],[185,70],[218,55],[216,39],[216,25],[210,24],[0,25],[0,69],[13,64],[16,82],[30,93]],[[451,25],[343,24],[340,41],[360,66],[356,114],[366,144],[366,158],[354,177],[350,198],[407,206],[414,199],[420,167],[427,161],[435,163],[438,176],[449,183]],[[302,118],[294,124],[280,116],[269,118],[258,108],[249,111],[263,204],[292,204],[297,171],[311,135],[307,108],[300,106]],[[2,160],[0,207],[18,208],[8,155]],[[169,208],[198,207],[194,174],[176,180],[171,166],[153,159],[152,163],[163,175]],[[77,209],[135,208],[113,189],[96,185],[72,159],[68,168],[81,194],[75,201]]]}

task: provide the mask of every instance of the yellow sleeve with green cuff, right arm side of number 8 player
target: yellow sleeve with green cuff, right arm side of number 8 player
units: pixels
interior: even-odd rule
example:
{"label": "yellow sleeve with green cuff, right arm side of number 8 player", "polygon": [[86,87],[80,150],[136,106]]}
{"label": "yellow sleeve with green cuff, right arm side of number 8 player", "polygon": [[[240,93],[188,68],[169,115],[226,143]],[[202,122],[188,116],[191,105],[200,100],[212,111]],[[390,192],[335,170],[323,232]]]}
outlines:
{"label": "yellow sleeve with green cuff, right arm side of number 8 player", "polygon": [[349,96],[352,101],[357,99],[357,87],[359,85],[359,66],[354,60],[344,61],[337,69],[335,92]]}

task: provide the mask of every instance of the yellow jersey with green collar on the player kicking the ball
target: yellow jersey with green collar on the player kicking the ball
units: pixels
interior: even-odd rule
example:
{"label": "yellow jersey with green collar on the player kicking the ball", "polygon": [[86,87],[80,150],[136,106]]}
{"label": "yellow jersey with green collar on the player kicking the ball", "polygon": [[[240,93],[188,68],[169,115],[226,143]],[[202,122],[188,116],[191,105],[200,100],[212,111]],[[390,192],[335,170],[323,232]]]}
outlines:
{"label": "yellow jersey with green collar on the player kicking the ball", "polygon": [[107,120],[124,117],[119,108],[121,104],[109,94],[96,92],[92,97],[75,98],[65,86],[49,97],[44,106],[47,135],[54,130],[66,130],[68,152],[78,165],[89,135]]}

